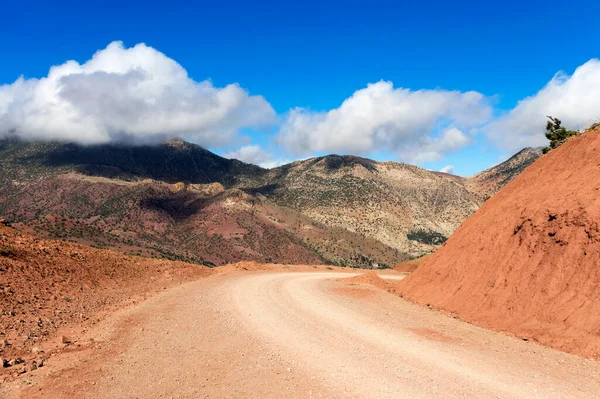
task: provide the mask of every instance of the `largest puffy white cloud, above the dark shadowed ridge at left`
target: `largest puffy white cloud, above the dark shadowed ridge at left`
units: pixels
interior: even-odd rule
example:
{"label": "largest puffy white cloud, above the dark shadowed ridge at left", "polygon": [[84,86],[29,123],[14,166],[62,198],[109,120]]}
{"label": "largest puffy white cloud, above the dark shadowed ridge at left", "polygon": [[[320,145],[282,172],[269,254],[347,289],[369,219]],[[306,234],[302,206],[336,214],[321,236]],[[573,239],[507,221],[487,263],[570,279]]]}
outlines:
{"label": "largest puffy white cloud, above the dark shadowed ridge at left", "polygon": [[163,53],[113,42],[84,64],[0,86],[0,135],[80,143],[153,142],[181,136],[205,146],[274,121],[261,96],[238,84],[196,82]]}

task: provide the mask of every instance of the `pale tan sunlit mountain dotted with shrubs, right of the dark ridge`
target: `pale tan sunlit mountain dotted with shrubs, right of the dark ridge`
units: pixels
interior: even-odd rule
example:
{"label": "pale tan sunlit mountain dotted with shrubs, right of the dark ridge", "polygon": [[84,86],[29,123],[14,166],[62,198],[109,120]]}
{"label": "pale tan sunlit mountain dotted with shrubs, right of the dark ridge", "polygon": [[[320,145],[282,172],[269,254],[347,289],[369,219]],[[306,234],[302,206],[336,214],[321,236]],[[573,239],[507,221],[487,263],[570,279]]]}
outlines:
{"label": "pale tan sunlit mountain dotted with shrubs, right of the dark ridge", "polygon": [[256,191],[328,227],[411,256],[430,252],[479,207],[462,185],[413,165],[329,155],[272,169]]}

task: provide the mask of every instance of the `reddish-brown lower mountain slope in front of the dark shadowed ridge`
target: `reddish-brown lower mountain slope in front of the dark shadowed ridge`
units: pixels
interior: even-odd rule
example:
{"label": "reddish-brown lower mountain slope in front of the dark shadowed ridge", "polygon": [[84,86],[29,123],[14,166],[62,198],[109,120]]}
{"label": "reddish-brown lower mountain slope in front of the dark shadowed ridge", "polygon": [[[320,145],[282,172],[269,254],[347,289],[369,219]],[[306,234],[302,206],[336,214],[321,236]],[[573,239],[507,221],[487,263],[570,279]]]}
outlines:
{"label": "reddish-brown lower mountain slope in front of the dark shadowed ridge", "polygon": [[30,183],[0,206],[15,226],[38,235],[138,255],[208,266],[246,258],[322,262],[277,222],[268,200],[219,183],[123,182],[68,173]]}

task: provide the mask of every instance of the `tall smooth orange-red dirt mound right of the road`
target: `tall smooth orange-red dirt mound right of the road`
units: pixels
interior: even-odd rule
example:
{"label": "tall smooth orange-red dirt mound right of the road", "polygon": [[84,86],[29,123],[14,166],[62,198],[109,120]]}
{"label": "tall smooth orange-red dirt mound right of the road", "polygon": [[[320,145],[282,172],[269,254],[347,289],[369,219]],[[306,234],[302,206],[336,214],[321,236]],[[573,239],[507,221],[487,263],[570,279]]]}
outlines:
{"label": "tall smooth orange-red dirt mound right of the road", "polygon": [[535,161],[462,224],[401,294],[600,358],[600,129]]}

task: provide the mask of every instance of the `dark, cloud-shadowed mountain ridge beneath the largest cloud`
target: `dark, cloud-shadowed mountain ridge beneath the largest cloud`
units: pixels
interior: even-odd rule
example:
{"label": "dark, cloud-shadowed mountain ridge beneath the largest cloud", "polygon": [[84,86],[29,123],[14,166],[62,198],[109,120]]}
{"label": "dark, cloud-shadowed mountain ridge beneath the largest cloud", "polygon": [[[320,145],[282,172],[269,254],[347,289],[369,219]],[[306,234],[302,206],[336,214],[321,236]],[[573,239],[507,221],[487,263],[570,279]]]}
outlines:
{"label": "dark, cloud-shadowed mountain ridge beneath the largest cloud", "polygon": [[181,139],[156,146],[81,146],[4,139],[0,141],[0,154],[3,184],[76,172],[126,181],[219,182],[232,187],[245,177],[264,173],[258,166],[222,158]]}

